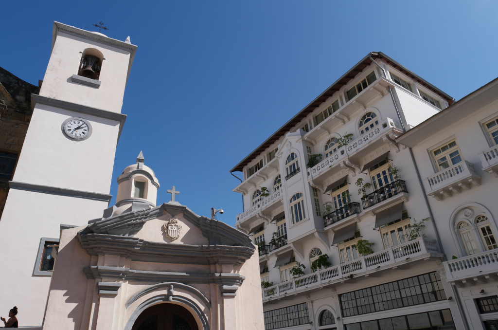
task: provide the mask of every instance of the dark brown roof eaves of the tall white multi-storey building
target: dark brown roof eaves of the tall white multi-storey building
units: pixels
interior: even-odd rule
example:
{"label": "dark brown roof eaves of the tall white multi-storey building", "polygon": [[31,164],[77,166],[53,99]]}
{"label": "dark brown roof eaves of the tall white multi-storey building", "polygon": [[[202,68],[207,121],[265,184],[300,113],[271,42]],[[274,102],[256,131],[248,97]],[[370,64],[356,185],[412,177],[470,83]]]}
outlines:
{"label": "dark brown roof eaves of the tall white multi-storey building", "polygon": [[417,83],[421,84],[425,88],[431,90],[435,94],[441,96],[446,99],[449,104],[454,102],[454,99],[435,87],[431,83],[426,80],[420,78],[415,73],[411,72],[398,62],[394,61],[389,56],[385,55],[382,52],[370,52],[367,56],[365,56],[360,62],[358,62],[355,66],[353,66],[348,72],[346,72],[341,78],[335,81],[332,85],[330,85],[323,93],[321,93],[317,98],[315,98],[310,104],[308,104],[304,109],[299,111],[294,117],[292,117],[287,123],[285,123],[282,127],[280,127],[275,133],[273,133],[268,139],[266,139],[261,145],[259,145],[254,151],[252,151],[246,158],[244,158],[239,164],[235,165],[234,168],[230,170],[230,172],[242,171],[244,166],[248,165],[252,162],[256,157],[259,156],[262,152],[264,152],[267,148],[269,148],[272,144],[282,138],[285,134],[287,134],[294,126],[299,124],[304,118],[306,118],[310,113],[315,111],[318,107],[322,105],[325,101],[327,101],[330,97],[334,95],[334,93],[338,92],[342,87],[347,85],[350,80],[354,79],[359,73],[361,73],[367,66],[372,64],[372,60],[370,56],[372,55],[373,59],[383,59],[389,65],[394,66],[395,68],[403,71],[407,76],[417,81]]}

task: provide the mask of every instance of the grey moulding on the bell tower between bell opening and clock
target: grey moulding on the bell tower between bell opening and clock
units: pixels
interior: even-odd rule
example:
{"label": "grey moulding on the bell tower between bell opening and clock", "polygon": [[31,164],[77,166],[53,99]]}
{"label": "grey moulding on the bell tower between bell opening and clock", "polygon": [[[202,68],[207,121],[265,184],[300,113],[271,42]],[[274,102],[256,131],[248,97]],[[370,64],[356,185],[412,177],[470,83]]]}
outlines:
{"label": "grey moulding on the bell tower between bell opening and clock", "polygon": [[[78,104],[78,103],[72,103],[72,102],[63,101],[63,100],[52,99],[52,98],[49,98],[46,96],[31,94],[31,109],[34,109],[34,107],[37,104],[43,104],[43,105],[47,105],[49,107],[65,109],[65,110],[69,110],[69,111],[78,112],[81,114],[86,114],[86,115],[91,115],[91,116],[95,116],[95,117],[100,117],[100,118],[104,118],[104,119],[110,119],[110,120],[117,121],[120,123],[120,129],[118,132],[118,141],[120,141],[121,131],[123,131],[124,122],[126,121],[126,115],[124,115],[124,114],[121,114],[118,112],[107,111],[107,110],[103,110],[103,109],[98,109],[98,108],[93,108],[93,107],[89,107],[89,106]],[[116,143],[118,143],[118,141]]]}

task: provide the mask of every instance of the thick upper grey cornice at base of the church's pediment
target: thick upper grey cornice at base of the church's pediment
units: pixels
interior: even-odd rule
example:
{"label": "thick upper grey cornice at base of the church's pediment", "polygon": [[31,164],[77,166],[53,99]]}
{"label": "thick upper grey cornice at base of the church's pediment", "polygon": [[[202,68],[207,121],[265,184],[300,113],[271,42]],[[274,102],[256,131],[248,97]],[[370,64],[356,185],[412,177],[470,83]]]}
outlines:
{"label": "thick upper grey cornice at base of the church's pediment", "polygon": [[159,243],[109,234],[81,234],[78,240],[91,256],[107,254],[142,262],[242,265],[254,253],[245,246]]}

